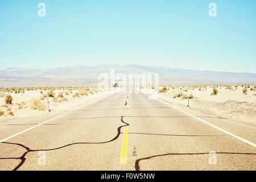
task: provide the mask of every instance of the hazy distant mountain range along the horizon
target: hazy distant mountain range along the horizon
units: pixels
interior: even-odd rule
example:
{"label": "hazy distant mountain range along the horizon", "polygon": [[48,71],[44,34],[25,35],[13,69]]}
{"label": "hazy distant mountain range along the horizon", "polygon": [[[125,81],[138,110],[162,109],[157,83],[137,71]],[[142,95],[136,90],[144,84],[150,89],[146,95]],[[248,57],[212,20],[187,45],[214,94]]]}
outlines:
{"label": "hazy distant mountain range along the horizon", "polygon": [[[73,67],[58,67],[52,69],[7,68],[0,69],[0,86],[23,86],[20,83],[42,85],[42,83],[61,84],[96,84],[100,73],[158,73],[160,84],[234,84],[256,83],[254,73],[199,71],[180,68],[152,67],[146,65],[97,65],[88,67],[77,65]],[[40,84],[41,83],[41,84]]]}

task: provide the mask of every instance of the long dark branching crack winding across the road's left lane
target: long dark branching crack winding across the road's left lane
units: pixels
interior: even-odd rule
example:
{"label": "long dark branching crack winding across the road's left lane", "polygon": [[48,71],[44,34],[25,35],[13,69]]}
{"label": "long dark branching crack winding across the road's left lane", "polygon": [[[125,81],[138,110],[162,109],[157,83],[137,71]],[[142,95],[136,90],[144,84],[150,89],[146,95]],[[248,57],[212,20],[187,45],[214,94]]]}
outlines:
{"label": "long dark branching crack winding across the road's left lane", "polygon": [[130,125],[129,123],[126,123],[126,122],[123,121],[123,116],[121,117],[121,122],[122,122],[122,123],[125,123],[125,125],[119,126],[119,127],[117,128],[117,135],[115,135],[115,137],[114,137],[113,139],[108,140],[108,141],[105,141],[105,142],[76,142],[76,143],[66,144],[65,146],[61,146],[61,147],[50,148],[50,149],[42,149],[42,150],[32,150],[32,149],[30,149],[29,147],[26,147],[26,146],[24,146],[23,144],[20,144],[20,143],[2,142],[2,143],[6,143],[6,144],[15,144],[15,145],[18,145],[18,146],[20,146],[20,147],[23,147],[23,148],[26,149],[26,152],[24,152],[23,155],[20,156],[19,158],[0,158],[0,159],[19,159],[19,160],[20,160],[20,163],[18,164],[18,166],[16,166],[16,167],[13,169],[13,171],[16,171],[17,169],[19,169],[19,168],[24,164],[24,162],[26,161],[26,155],[27,155],[28,153],[30,153],[30,152],[58,150],[58,149],[60,149],[60,148],[72,146],[72,145],[75,145],[75,144],[103,144],[103,143],[113,142],[114,140],[118,139],[119,135],[121,134],[121,129],[122,129],[122,127],[129,126],[129,125]]}

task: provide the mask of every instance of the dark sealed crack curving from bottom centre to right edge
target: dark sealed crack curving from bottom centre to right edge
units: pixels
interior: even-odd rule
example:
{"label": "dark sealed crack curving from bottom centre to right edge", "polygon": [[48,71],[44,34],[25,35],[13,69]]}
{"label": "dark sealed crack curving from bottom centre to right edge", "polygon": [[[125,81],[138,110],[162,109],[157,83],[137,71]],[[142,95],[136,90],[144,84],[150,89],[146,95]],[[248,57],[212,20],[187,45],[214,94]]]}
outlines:
{"label": "dark sealed crack curving from bottom centre to right edge", "polygon": [[[141,158],[141,159],[137,159],[135,161],[135,170],[136,171],[140,171],[141,167],[139,166],[139,162],[141,162],[142,160],[148,160],[151,158],[156,158],[156,157],[160,157],[160,156],[167,156],[167,155],[209,155],[209,152],[200,152],[200,153],[168,153],[168,154],[160,154],[160,155],[153,155],[153,156],[149,156],[146,158]],[[238,152],[216,152],[216,154],[235,154],[235,155],[256,155],[254,153],[238,153]]]}

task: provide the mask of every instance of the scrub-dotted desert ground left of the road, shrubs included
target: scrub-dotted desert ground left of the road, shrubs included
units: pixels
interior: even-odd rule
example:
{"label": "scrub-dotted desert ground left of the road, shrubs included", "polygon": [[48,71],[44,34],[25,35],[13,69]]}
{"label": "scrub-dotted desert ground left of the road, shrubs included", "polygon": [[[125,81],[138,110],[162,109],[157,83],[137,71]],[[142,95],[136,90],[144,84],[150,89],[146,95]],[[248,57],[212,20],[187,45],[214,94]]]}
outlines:
{"label": "scrub-dotted desert ground left of the road, shrubs included", "polygon": [[[51,113],[60,113],[96,100],[113,90],[113,88],[93,86],[2,88],[0,90],[0,122],[48,113],[47,97]],[[6,101],[7,97],[11,98],[10,103]]]}

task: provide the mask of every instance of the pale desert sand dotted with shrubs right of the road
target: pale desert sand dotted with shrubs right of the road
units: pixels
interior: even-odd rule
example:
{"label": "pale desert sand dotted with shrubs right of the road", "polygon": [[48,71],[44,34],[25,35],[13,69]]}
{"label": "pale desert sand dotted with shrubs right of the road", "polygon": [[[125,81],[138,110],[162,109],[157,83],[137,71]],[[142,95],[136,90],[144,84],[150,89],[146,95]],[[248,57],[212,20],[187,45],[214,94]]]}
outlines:
{"label": "pale desert sand dotted with shrubs right of the road", "polygon": [[[217,90],[217,94],[213,93]],[[145,88],[144,88],[145,90]],[[218,117],[256,123],[256,85],[160,86],[148,88],[149,94],[180,107],[214,114]]]}

